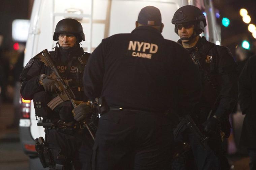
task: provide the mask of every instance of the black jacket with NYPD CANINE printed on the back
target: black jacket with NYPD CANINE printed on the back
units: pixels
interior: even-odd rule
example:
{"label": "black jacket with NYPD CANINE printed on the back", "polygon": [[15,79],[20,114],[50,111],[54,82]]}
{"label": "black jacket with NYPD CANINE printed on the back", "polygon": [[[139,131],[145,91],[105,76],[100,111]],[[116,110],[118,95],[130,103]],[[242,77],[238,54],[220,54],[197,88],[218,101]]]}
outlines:
{"label": "black jacket with NYPD CANINE printed on the back", "polygon": [[153,112],[171,107],[188,113],[201,89],[188,52],[148,26],[103,39],[88,60],[83,80],[91,99],[104,96],[111,107]]}

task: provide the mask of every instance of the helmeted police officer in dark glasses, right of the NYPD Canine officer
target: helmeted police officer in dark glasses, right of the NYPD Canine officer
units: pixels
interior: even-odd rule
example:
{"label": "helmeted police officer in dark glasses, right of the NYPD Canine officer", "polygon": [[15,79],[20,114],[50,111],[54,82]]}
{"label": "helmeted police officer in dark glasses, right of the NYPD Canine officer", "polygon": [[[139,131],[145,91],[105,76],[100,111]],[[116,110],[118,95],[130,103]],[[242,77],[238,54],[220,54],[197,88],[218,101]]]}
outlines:
{"label": "helmeted police officer in dark glasses, right of the NYPD Canine officer", "polygon": [[210,137],[210,147],[203,150],[196,142],[196,137],[188,132],[197,168],[229,169],[223,156],[221,141],[230,134],[228,114],[232,112],[237,99],[236,64],[228,48],[215,45],[199,36],[206,26],[205,16],[199,8],[183,6],[174,13],[171,22],[175,25],[175,33],[181,38],[178,43],[189,51],[201,72],[202,96],[191,116]]}

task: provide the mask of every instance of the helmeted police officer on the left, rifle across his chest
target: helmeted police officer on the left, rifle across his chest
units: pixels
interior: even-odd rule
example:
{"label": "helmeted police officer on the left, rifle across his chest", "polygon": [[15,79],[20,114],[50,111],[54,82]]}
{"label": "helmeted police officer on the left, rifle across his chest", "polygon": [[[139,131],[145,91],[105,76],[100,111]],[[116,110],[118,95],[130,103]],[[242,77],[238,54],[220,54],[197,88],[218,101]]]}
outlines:
{"label": "helmeted police officer on the left, rifle across his chest", "polygon": [[[87,101],[83,91],[82,76],[90,53],[84,52],[79,45],[81,41],[85,41],[82,25],[71,18],[60,20],[56,25],[53,40],[57,43],[55,51],[50,51],[50,55],[60,75],[69,81],[76,100]],[[56,83],[49,77],[52,72],[49,66],[46,67],[39,59],[32,58],[20,77],[22,97],[28,100],[34,99],[34,102],[39,100],[41,105],[37,108],[43,108],[44,101],[47,104],[56,96]],[[38,102],[34,103],[37,104]],[[89,170],[93,140],[88,132],[81,132],[75,127],[78,123],[73,118],[71,102],[62,102],[51,113],[47,106],[45,110],[48,113],[41,113],[41,110],[37,109],[36,115],[42,117],[42,122],[45,123],[45,151],[48,152],[49,157],[44,160],[51,160],[46,166],[49,169],[70,170],[72,161],[76,170]],[[54,126],[46,126],[47,123]]]}

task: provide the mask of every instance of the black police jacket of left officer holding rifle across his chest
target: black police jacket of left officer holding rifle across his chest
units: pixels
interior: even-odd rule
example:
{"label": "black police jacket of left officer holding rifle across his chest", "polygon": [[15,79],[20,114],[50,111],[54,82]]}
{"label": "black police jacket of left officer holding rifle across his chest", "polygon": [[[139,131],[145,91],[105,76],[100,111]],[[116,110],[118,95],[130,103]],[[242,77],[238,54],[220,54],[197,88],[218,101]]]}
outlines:
{"label": "black police jacket of left officer holding rifle across his chest", "polygon": [[[85,66],[78,61],[78,57],[84,54],[85,52],[82,47],[77,48],[77,50],[73,51],[72,53],[66,53],[58,47],[55,48],[55,51],[50,51],[50,55],[52,56],[60,75],[63,78],[70,80],[69,86],[76,96],[75,100],[87,101],[87,97],[84,95],[82,87],[82,77]],[[70,71],[69,73],[66,73],[65,70],[70,62]],[[37,58],[31,58],[20,76],[20,81],[22,82],[22,97],[27,100],[32,100],[35,93],[44,91],[43,86],[38,82],[39,75],[50,75],[52,72],[52,69],[49,66],[46,67],[42,61]],[[80,87],[80,90],[78,90],[78,87]],[[50,95],[52,97],[56,96],[54,93],[51,93]],[[70,111],[69,115],[72,115],[71,111],[73,108],[70,102],[64,103],[63,107],[66,107],[66,111]]]}

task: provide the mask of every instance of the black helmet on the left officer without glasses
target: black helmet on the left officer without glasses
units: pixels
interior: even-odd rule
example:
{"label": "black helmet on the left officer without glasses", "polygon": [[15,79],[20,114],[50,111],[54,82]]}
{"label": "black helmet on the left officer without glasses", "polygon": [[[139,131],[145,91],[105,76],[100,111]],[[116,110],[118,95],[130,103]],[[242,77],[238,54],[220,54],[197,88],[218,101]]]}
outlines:
{"label": "black helmet on the left officer without glasses", "polygon": [[59,40],[60,34],[74,34],[78,41],[85,41],[85,34],[81,23],[72,18],[65,18],[58,22],[53,34],[53,40]]}

